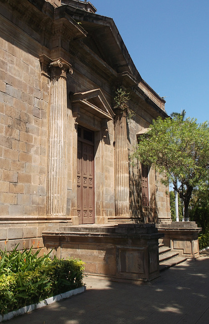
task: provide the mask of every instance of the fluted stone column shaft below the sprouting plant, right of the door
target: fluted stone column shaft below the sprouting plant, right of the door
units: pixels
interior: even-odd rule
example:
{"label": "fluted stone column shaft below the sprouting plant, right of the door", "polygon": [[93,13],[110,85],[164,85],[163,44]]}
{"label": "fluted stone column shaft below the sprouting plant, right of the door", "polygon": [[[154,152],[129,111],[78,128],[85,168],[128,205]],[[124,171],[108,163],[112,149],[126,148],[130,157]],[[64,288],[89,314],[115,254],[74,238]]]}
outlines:
{"label": "fluted stone column shaft below the sprouting plant, right of the door", "polygon": [[115,216],[129,216],[129,157],[127,147],[126,112],[115,116]]}

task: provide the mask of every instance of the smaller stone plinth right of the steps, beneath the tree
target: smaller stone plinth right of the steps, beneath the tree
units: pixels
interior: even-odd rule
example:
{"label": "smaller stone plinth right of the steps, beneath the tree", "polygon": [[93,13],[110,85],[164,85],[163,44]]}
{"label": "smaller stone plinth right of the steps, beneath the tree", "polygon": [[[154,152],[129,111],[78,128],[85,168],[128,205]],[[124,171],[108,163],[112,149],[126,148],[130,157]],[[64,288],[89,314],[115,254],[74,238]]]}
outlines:
{"label": "smaller stone plinth right of the steps, beneath the tree", "polygon": [[158,232],[164,234],[161,242],[165,246],[187,258],[199,257],[198,234],[201,228],[195,222],[172,222],[156,226]]}

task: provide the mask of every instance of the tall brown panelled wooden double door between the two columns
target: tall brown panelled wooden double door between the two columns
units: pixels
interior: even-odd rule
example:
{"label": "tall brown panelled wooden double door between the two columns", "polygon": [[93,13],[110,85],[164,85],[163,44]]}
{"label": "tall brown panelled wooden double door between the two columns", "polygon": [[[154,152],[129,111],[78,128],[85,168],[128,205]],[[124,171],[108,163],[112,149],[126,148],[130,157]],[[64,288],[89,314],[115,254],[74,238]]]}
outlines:
{"label": "tall brown panelled wooden double door between the two columns", "polygon": [[79,224],[94,224],[94,132],[78,126],[77,215]]}

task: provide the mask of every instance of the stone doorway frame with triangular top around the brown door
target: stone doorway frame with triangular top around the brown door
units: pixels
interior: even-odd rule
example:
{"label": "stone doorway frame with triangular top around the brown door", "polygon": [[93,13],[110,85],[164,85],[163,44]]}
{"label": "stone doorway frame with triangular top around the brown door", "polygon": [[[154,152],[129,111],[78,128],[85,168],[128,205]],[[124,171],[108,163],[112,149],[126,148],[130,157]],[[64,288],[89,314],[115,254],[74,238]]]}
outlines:
{"label": "stone doorway frame with triangular top around the brown door", "polygon": [[[105,96],[100,89],[90,90],[82,93],[75,93],[71,96],[72,116],[74,118],[73,131],[73,172],[72,172],[72,190],[73,201],[71,204],[71,213],[73,225],[78,225],[77,216],[77,126],[85,127],[95,134],[95,224],[106,224],[108,219],[105,209],[105,166],[103,156],[104,138],[108,132],[107,122],[113,120],[114,113],[109,106]],[[93,123],[94,121],[94,123]],[[76,171],[76,172],[75,172]]]}

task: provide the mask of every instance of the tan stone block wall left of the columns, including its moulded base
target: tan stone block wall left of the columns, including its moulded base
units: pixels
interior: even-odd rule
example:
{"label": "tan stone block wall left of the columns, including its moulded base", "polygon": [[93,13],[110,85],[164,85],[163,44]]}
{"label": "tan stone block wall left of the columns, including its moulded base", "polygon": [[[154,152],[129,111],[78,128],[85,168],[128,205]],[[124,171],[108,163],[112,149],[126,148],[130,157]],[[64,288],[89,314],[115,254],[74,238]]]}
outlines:
{"label": "tan stone block wall left of the columns, including its moulded base", "polygon": [[38,34],[16,23],[0,19],[0,248],[8,250],[43,248],[46,217],[49,82]]}

